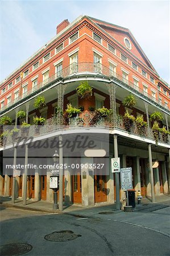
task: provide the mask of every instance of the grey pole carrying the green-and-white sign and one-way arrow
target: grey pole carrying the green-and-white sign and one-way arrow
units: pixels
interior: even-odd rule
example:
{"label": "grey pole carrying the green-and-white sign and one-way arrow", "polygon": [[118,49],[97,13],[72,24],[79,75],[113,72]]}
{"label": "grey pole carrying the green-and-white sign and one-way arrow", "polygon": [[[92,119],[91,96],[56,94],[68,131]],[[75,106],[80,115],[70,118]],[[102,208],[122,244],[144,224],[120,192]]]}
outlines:
{"label": "grey pole carrying the green-and-white sign and one-way arrow", "polygon": [[[114,157],[118,158],[118,137],[114,135]],[[116,188],[116,209],[121,209],[120,196],[119,196],[119,172],[115,172],[115,188]]]}

